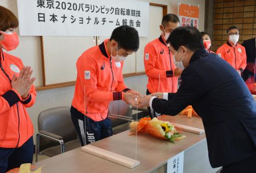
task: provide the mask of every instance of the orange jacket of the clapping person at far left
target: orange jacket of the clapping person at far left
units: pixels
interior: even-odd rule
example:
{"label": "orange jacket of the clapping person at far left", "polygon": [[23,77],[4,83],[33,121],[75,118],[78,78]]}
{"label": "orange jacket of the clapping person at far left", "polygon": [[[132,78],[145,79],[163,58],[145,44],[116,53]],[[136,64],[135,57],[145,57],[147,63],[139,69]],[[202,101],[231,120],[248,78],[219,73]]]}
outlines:
{"label": "orange jacket of the clapping person at far left", "polygon": [[34,133],[26,107],[35,103],[36,91],[32,85],[28,98],[23,100],[12,89],[11,79],[14,74],[19,76],[22,60],[3,51],[0,53],[0,147],[15,148],[22,146]]}

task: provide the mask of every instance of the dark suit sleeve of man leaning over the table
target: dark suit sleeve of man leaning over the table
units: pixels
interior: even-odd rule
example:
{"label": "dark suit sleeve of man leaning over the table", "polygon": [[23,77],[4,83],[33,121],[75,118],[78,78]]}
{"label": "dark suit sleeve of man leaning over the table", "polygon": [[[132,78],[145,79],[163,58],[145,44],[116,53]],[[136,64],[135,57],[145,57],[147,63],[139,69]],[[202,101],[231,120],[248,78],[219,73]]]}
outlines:
{"label": "dark suit sleeve of man leaning over the table", "polygon": [[152,107],[158,113],[175,116],[201,97],[203,93],[204,82],[202,77],[195,70],[186,69],[183,71],[178,92],[169,94],[169,100],[153,99]]}

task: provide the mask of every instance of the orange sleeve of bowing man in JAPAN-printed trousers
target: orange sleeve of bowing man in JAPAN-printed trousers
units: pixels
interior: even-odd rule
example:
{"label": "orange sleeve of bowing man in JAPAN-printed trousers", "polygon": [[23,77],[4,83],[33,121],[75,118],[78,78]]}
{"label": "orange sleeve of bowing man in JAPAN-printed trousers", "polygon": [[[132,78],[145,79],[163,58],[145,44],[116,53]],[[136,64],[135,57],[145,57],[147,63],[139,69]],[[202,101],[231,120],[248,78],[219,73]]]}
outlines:
{"label": "orange sleeve of bowing man in JAPAN-printed trousers", "polygon": [[85,97],[84,99],[91,102],[121,100],[122,92],[109,92],[108,89],[97,87],[97,64],[95,61],[89,61],[88,59],[91,59],[91,57],[81,56],[76,63],[77,80],[80,83],[79,87],[84,91],[80,97]]}

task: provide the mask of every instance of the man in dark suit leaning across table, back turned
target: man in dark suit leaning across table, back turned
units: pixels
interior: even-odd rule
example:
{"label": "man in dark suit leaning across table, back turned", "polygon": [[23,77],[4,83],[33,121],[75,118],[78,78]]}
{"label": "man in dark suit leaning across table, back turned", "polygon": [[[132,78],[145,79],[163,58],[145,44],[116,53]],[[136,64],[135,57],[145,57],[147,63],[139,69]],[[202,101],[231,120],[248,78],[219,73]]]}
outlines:
{"label": "man in dark suit leaning across table, back turned", "polygon": [[175,116],[193,105],[204,124],[211,166],[223,166],[223,173],[256,172],[256,103],[241,76],[205,51],[194,27],[175,29],[167,42],[185,67],[180,88],[146,96],[139,106]]}

